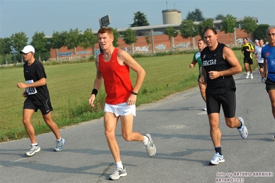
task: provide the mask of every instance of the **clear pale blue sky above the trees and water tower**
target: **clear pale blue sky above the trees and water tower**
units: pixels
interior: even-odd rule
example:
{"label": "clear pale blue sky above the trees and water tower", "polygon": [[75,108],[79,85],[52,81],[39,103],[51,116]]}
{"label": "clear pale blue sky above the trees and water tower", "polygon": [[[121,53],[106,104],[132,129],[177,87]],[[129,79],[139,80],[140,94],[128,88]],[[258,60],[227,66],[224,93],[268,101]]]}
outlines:
{"label": "clear pale blue sky above the trees and water tower", "polygon": [[196,8],[203,17],[231,14],[257,17],[258,24],[275,25],[275,0],[0,0],[0,37],[24,32],[32,41],[35,32],[99,30],[99,18],[110,15],[112,28],[129,28],[134,13],[145,14],[150,25],[162,25],[162,10],[181,11],[182,19]]}

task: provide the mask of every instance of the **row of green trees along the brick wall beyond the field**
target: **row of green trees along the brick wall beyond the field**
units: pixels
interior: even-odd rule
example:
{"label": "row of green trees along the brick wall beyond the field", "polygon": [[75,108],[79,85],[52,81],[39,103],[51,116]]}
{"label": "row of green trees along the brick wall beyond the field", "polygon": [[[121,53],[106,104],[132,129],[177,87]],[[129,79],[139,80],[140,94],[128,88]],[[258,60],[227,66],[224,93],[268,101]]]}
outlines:
{"label": "row of green trees along the brick wall beyond the field", "polygon": [[[236,17],[230,14],[223,16],[223,14],[218,14],[215,18],[222,21],[222,29],[225,34],[229,33],[230,36],[237,27]],[[195,21],[199,21],[198,25],[195,25]],[[186,19],[181,22],[179,30],[175,30],[172,27],[166,28],[163,32],[171,40],[172,37],[181,34],[185,39],[190,38],[192,43],[192,37],[200,35],[203,38],[203,29],[205,27],[212,27],[214,25],[214,19],[205,19],[201,10],[196,8],[193,12],[188,12]],[[147,26],[150,25],[147,21],[147,17],[143,12],[134,13],[134,23],[130,24],[130,28],[123,32],[123,41],[132,45],[136,43],[136,31],[132,30],[132,27]],[[253,17],[245,17],[241,21],[241,29],[245,30],[247,34],[254,34],[255,39],[266,39],[266,30],[269,27],[267,24],[257,25]],[[119,39],[119,32],[113,29],[114,32],[114,46],[119,47],[117,41]],[[150,44],[150,37],[145,36],[145,41]],[[230,40],[231,41],[231,40]],[[7,64],[14,62],[23,62],[23,57],[19,54],[20,50],[27,45],[28,38],[24,32],[19,32],[12,34],[10,37],[0,38],[0,64]],[[35,32],[32,36],[32,41],[30,45],[35,47],[35,58],[39,61],[47,61],[50,58],[50,49],[57,50],[61,47],[68,47],[69,50],[74,50],[74,56],[76,56],[76,48],[83,47],[87,49],[92,47],[94,52],[94,45],[97,43],[97,36],[92,33],[92,29],[87,29],[84,32],[78,29],[63,31],[63,32],[53,32],[52,37],[48,38],[45,36],[44,32]],[[230,42],[231,43],[231,42]],[[57,53],[56,53],[57,55]],[[58,56],[56,58],[58,60]]]}

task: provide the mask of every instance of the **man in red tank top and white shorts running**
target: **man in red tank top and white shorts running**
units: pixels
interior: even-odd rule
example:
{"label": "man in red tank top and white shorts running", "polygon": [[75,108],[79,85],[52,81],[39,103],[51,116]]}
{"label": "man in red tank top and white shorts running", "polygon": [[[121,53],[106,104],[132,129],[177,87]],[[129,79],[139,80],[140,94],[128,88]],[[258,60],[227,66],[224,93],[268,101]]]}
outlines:
{"label": "man in red tank top and white shorts running", "polygon": [[[116,169],[111,180],[127,175],[120,157],[119,144],[116,141],[116,123],[121,119],[121,133],[126,141],[143,142],[150,157],[156,154],[156,147],[149,133],[144,136],[132,131],[134,116],[136,116],[136,96],[145,77],[145,70],[128,52],[119,50],[112,45],[114,35],[110,28],[101,28],[98,31],[98,41],[103,52],[96,57],[96,79],[89,104],[94,107],[96,94],[104,82],[105,98],[104,127],[107,142],[116,162]],[[132,87],[130,69],[136,72],[136,83]]]}

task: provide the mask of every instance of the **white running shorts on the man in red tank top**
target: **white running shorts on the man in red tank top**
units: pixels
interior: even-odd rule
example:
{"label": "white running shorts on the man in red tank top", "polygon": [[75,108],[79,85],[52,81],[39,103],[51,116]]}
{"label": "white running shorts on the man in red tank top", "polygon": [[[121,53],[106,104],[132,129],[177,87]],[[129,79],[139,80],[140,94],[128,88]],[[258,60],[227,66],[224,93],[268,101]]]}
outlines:
{"label": "white running shorts on the man in red tank top", "polygon": [[127,105],[127,103],[110,105],[108,103],[105,103],[104,112],[114,113],[116,117],[127,116],[131,113],[136,116],[136,105]]}

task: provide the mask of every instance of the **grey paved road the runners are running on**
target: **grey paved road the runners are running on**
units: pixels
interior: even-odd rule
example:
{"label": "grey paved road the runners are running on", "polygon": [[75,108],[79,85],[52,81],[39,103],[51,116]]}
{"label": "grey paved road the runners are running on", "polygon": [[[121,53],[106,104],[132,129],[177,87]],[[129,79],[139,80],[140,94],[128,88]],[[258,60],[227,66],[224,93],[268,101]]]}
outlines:
{"label": "grey paved road the runners are running on", "polygon": [[[119,123],[117,139],[128,176],[118,182],[232,182],[233,173],[236,182],[274,182],[275,121],[265,84],[257,71],[253,80],[243,74],[235,79],[236,116],[244,118],[249,135],[243,140],[226,127],[221,112],[225,162],[208,165],[214,148],[203,100],[194,88],[138,107],[134,130],[152,135],[154,158],[141,142],[125,142]],[[63,151],[53,151],[54,136],[46,133],[37,136],[41,151],[30,158],[24,155],[28,139],[1,143],[0,182],[110,182],[114,163],[102,118],[61,129],[61,135],[67,140]],[[269,177],[256,177],[258,172]]]}

